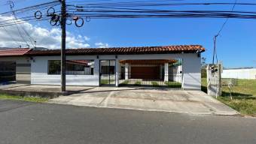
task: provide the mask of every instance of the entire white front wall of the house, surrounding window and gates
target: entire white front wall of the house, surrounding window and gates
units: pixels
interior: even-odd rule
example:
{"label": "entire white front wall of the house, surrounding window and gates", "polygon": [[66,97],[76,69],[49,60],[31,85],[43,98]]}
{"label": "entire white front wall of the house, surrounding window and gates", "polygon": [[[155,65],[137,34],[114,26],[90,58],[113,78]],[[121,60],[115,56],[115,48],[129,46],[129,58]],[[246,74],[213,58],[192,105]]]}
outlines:
{"label": "entire white front wall of the house, surrounding window and gates", "polygon": [[[99,60],[116,59],[182,59],[182,88],[183,89],[201,89],[201,58],[195,53],[184,54],[153,54],[153,55],[72,55],[67,56],[69,59],[88,59],[94,60],[94,75],[67,75],[67,85],[80,86],[99,86]],[[35,56],[35,62],[32,62],[32,84],[60,85],[60,75],[47,74],[47,61],[60,60],[60,56]]]}

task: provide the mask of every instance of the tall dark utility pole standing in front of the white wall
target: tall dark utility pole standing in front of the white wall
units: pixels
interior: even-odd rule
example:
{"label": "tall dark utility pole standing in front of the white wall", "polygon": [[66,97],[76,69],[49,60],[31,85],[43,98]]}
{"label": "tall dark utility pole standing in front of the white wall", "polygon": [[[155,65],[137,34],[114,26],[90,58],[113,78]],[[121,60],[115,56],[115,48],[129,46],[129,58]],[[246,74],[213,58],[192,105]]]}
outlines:
{"label": "tall dark utility pole standing in front of the white wall", "polygon": [[61,91],[66,92],[66,0],[61,1]]}

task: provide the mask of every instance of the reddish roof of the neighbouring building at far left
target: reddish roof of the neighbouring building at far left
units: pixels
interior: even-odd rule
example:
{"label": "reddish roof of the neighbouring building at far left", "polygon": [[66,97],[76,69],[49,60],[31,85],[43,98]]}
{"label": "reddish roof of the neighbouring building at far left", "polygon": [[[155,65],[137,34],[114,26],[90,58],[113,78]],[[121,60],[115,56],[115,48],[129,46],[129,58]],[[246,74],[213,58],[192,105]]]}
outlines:
{"label": "reddish roof of the neighbouring building at far left", "polygon": [[29,48],[3,49],[0,50],[0,56],[21,56],[30,50]]}

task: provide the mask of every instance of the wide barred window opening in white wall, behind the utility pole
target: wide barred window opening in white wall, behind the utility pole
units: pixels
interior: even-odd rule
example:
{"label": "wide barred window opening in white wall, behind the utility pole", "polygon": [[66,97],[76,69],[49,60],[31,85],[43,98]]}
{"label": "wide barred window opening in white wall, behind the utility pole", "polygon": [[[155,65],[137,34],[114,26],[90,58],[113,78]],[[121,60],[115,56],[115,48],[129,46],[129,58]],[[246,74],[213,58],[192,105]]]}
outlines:
{"label": "wide barred window opening in white wall, behind the utility pole", "polygon": [[[66,75],[93,75],[93,60],[67,60]],[[60,74],[60,60],[48,61],[48,74]]]}

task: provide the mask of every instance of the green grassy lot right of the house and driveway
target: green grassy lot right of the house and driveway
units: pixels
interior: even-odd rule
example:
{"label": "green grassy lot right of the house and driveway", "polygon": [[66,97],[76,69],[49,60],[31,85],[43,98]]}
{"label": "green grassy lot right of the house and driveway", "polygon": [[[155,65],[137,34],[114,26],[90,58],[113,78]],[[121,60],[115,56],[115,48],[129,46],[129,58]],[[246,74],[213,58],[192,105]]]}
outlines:
{"label": "green grassy lot right of the house and driveway", "polygon": [[[207,92],[206,78],[202,79],[202,91]],[[222,87],[222,95],[219,101],[245,115],[256,116],[256,80],[238,80],[238,85],[233,86],[230,92],[227,86]]]}

